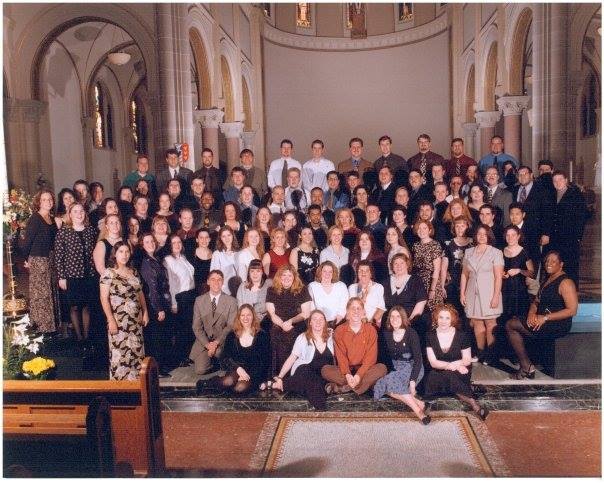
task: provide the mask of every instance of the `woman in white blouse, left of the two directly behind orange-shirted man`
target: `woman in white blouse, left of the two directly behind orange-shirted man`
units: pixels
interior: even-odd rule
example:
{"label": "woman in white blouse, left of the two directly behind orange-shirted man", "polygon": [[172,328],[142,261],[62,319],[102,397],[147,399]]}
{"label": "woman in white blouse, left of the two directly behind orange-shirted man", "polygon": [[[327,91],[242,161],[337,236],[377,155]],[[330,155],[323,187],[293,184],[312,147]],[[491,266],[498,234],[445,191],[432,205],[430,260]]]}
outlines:
{"label": "woman in white blouse, left of the two directly behind orange-shirted man", "polygon": [[315,281],[308,286],[314,308],[321,310],[327,318],[327,323],[334,328],[346,317],[348,303],[348,288],[340,282],[338,268],[331,261],[323,262],[316,272]]}

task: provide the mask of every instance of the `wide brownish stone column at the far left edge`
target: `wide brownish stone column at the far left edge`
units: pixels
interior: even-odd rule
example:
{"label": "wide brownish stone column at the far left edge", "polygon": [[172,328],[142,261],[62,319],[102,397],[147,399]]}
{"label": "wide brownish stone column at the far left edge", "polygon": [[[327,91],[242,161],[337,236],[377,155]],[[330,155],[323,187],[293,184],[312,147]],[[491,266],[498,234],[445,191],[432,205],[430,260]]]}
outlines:
{"label": "wide brownish stone column at the far left edge", "polygon": [[33,99],[4,99],[7,177],[2,183],[30,193],[36,192],[40,176],[53,183],[52,166],[44,163],[40,151],[40,119],[46,107]]}

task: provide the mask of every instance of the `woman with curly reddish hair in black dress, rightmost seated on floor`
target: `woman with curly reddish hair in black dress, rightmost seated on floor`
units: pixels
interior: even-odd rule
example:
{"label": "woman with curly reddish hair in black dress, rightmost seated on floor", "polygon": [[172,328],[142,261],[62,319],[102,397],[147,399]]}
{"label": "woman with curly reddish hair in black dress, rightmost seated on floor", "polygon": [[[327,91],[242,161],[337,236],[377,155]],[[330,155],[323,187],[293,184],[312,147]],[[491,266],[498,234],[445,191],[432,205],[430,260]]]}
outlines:
{"label": "woman with curly reddish hair in black dress, rightmost seated on floor", "polygon": [[472,393],[472,348],[470,338],[459,330],[457,310],[450,304],[438,305],[432,312],[432,327],[426,338],[426,353],[432,370],[426,377],[425,396],[454,394],[469,404],[484,421],[489,414]]}

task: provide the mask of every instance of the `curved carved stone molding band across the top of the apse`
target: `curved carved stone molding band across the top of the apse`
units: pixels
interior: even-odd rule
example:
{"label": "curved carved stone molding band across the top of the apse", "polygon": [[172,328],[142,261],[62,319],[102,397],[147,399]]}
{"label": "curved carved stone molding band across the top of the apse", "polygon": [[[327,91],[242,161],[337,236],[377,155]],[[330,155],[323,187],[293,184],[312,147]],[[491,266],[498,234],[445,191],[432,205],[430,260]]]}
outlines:
{"label": "curved carved stone molding band across the top of the apse", "polygon": [[437,35],[447,29],[447,16],[441,15],[432,22],[408,30],[391,34],[374,35],[366,39],[349,39],[343,37],[312,37],[297,35],[276,29],[265,23],[263,37],[275,44],[305,50],[373,50],[385,47],[396,47]]}

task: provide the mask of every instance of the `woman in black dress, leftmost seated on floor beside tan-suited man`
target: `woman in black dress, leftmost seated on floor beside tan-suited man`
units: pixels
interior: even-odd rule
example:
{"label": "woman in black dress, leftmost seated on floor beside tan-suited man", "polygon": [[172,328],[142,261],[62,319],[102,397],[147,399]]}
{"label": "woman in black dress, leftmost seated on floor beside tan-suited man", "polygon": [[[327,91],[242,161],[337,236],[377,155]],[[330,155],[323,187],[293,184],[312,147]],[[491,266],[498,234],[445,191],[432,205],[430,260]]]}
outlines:
{"label": "woman in black dress, leftmost seated on floor beside tan-suited man", "polygon": [[258,389],[266,380],[270,359],[268,335],[260,328],[260,321],[249,304],[239,307],[233,321],[233,331],[224,343],[220,360],[226,374],[218,383],[235,394],[246,394]]}

